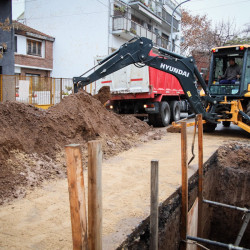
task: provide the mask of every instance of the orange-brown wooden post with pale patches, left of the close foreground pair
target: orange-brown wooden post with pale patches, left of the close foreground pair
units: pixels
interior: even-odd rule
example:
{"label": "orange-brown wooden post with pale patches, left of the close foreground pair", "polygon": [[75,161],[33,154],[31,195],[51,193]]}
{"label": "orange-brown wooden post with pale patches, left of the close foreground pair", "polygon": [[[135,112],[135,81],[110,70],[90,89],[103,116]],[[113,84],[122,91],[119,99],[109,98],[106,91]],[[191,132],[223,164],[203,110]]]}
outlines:
{"label": "orange-brown wooden post with pale patches, left of the close foreground pair", "polygon": [[73,249],[87,249],[87,216],[81,149],[78,144],[65,146]]}

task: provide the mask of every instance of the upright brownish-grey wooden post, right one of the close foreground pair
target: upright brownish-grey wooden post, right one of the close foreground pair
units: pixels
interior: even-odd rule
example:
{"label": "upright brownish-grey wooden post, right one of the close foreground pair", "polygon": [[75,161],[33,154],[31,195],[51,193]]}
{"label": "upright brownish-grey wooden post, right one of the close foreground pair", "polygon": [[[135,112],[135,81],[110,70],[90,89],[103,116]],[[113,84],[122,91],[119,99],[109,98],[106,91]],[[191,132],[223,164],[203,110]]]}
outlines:
{"label": "upright brownish-grey wooden post, right one of the close foreground pair", "polygon": [[102,249],[102,146],[88,142],[88,247]]}

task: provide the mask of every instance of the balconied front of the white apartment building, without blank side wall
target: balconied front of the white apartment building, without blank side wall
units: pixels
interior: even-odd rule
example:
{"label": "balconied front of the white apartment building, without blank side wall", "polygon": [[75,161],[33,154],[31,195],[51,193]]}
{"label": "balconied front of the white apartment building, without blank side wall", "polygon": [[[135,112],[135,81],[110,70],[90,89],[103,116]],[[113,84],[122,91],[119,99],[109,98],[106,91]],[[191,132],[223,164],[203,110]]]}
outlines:
{"label": "balconied front of the white apartment building, without blank side wall", "polygon": [[[114,3],[112,16],[112,35],[125,40],[135,35],[151,39],[156,46],[170,49],[172,12],[175,8],[172,1],[121,1]],[[170,14],[171,13],[171,14]],[[179,22],[181,14],[177,11],[173,18],[172,36],[173,51],[179,51]]]}

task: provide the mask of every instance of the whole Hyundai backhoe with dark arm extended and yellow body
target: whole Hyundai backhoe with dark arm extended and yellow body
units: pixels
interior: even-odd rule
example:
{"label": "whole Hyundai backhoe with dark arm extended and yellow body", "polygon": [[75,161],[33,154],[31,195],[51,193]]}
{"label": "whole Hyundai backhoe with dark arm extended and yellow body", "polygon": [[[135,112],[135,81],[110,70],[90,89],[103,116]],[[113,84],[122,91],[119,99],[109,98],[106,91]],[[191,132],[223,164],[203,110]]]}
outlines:
{"label": "whole Hyundai backhoe with dark arm extended and yellow body", "polygon": [[[250,46],[215,48],[210,67],[208,86],[199,73],[192,57],[183,57],[164,48],[157,48],[157,56],[149,55],[153,43],[145,37],[133,38],[120,49],[98,63],[98,68],[88,70],[73,78],[74,93],[80,88],[114,73],[130,64],[137,67],[149,66],[174,75],[180,82],[186,98],[195,114],[202,114],[205,120],[204,131],[213,131],[219,122],[233,122],[250,133]],[[155,49],[155,48],[154,48]],[[234,50],[234,51],[233,51]],[[234,85],[219,83],[220,71],[226,67],[230,56],[242,59],[241,81]],[[95,69],[88,76],[84,76]],[[197,89],[197,81],[202,87]],[[164,113],[164,102],[154,106],[154,111]],[[161,119],[164,119],[162,116]],[[226,124],[228,125],[228,124]]]}

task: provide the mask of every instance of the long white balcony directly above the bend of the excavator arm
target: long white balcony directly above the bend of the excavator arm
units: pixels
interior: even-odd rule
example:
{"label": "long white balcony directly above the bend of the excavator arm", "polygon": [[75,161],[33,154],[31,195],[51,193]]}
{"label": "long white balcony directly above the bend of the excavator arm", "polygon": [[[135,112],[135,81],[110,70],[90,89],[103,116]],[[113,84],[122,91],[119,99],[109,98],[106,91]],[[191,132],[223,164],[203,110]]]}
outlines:
{"label": "long white balcony directly above the bend of the excavator arm", "polygon": [[169,49],[167,39],[124,16],[113,16],[112,34],[125,40],[130,40],[135,36],[146,37],[152,40],[155,46]]}

